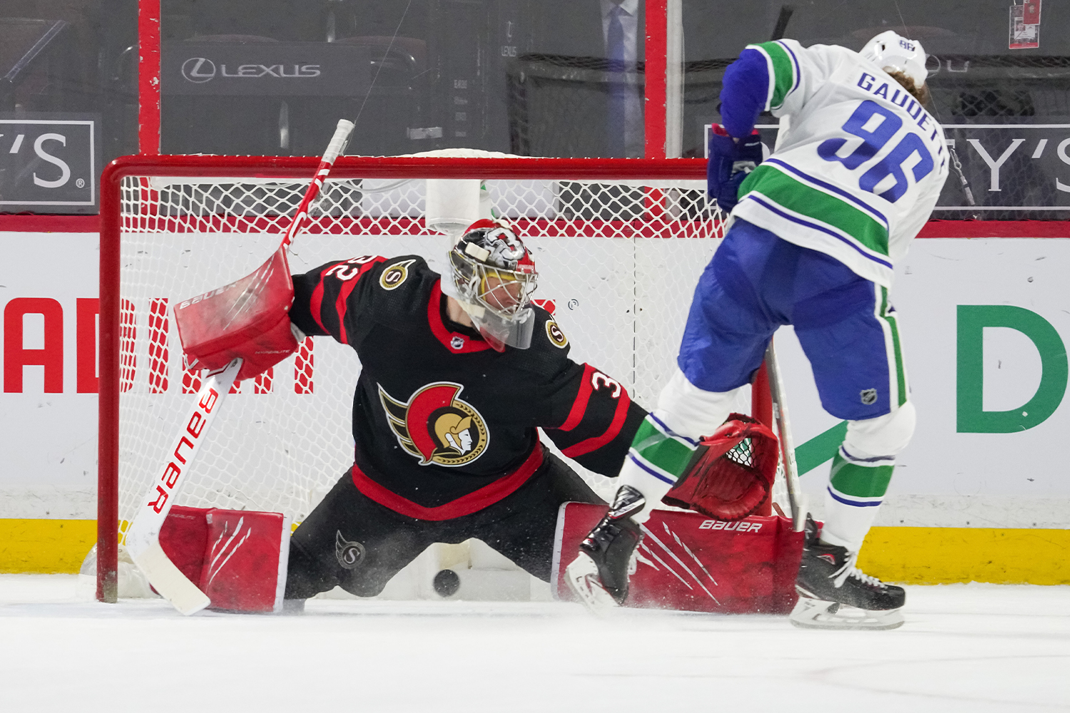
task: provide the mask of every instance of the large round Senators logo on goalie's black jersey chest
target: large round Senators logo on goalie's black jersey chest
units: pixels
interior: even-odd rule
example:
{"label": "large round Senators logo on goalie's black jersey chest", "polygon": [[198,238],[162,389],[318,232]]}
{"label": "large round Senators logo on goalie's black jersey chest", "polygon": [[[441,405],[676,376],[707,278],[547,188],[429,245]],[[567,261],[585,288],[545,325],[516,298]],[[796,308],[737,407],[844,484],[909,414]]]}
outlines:
{"label": "large round Senators logo on goalie's black jersey chest", "polygon": [[398,401],[379,386],[379,401],[386,422],[401,448],[419,459],[456,467],[471,463],[487,450],[487,422],[471,404],[457,397],[464,387],[452,382],[428,384],[408,403]]}

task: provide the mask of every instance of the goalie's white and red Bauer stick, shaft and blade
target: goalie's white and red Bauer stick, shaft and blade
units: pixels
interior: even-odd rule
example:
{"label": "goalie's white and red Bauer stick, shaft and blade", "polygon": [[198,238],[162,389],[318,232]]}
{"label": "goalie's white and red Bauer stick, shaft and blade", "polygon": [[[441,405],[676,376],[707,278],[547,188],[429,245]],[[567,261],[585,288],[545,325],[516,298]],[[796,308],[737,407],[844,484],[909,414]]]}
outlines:
{"label": "goalie's white and red Bauer stick, shaft and blade", "polygon": [[[320,188],[331,173],[332,165],[345,150],[352,130],[353,122],[345,119],[338,122],[331,143],[327,144],[316,174],[297,206],[293,221],[282,236],[279,249],[290,246],[294,235],[308,219],[309,206],[319,196]],[[239,299],[241,300],[241,297]],[[194,407],[188,417],[182,421],[179,433],[171,441],[173,448],[165,455],[164,463],[157,470],[158,478],[150,483],[125,534],[126,547],[149,583],[171,602],[174,608],[187,616],[209,606],[211,600],[167,557],[159,545],[159,530],[182,486],[189,479],[194,459],[200,451],[200,445],[205,440],[209,427],[218,415],[231,384],[240,373],[242,363],[242,359],[234,359],[221,370],[210,373],[204,379]]]}

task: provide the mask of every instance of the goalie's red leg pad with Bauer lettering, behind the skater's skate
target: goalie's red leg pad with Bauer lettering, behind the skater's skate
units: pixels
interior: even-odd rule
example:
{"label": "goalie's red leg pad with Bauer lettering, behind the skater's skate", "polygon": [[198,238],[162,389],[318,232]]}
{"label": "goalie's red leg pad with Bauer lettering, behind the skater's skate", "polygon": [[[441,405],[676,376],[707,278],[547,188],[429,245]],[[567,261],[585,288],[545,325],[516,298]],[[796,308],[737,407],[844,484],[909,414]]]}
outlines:
{"label": "goalie's red leg pad with Bauer lettering, behind the skater's skate", "polygon": [[[606,514],[606,506],[566,502],[557,515],[554,595],[575,601],[565,569],[580,542]],[[654,510],[643,524],[622,606],[788,614],[798,595],[795,577],[802,557],[802,532],[786,517],[751,515],[736,522],[698,512]]]}

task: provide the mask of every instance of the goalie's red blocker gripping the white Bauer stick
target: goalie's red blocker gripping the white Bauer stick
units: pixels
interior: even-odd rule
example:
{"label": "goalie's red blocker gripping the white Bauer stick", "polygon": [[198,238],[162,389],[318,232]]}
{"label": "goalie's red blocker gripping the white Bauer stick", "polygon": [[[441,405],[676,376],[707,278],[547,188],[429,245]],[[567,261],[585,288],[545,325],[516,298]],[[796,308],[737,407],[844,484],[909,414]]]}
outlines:
{"label": "goalie's red blocker gripping the white Bauer stick", "polygon": [[189,369],[221,369],[241,357],[235,381],[268,371],[297,348],[292,303],[285,247],[251,275],[180,303],[174,322]]}

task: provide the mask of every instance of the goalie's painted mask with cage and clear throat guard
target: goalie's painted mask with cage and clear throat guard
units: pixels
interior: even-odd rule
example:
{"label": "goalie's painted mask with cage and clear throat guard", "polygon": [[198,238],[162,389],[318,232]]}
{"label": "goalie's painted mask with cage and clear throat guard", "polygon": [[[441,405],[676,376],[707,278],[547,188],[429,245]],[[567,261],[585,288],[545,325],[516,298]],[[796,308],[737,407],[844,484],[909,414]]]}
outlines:
{"label": "goalie's painted mask with cage and clear throat guard", "polygon": [[535,312],[530,300],[538,274],[528,248],[504,222],[477,220],[449,250],[452,296],[487,343],[531,346]]}

